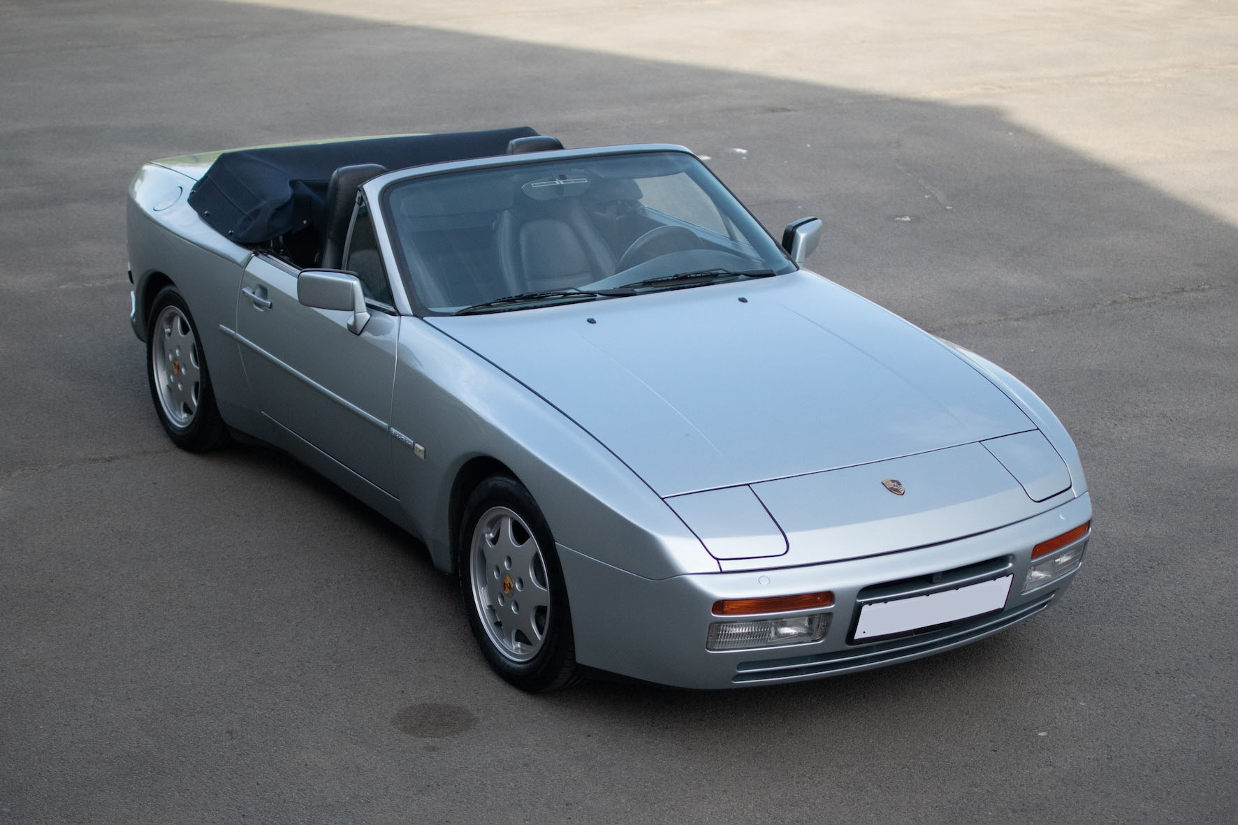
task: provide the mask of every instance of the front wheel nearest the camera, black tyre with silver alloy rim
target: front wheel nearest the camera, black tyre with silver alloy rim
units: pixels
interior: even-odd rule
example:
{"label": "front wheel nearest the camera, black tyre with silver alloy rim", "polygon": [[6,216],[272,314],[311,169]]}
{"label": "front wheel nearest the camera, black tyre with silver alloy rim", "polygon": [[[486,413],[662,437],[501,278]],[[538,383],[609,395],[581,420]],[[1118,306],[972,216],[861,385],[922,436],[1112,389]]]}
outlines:
{"label": "front wheel nearest the camera, black tyre with silver alloy rim", "polygon": [[457,569],[469,628],[495,673],[530,692],[579,680],[555,541],[519,482],[495,476],[469,495]]}

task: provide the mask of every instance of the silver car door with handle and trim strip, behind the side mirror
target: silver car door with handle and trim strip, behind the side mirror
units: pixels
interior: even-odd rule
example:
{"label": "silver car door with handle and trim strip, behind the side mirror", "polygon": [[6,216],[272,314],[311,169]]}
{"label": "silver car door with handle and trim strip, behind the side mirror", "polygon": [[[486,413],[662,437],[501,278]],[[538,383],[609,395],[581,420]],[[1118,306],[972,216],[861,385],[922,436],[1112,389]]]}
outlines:
{"label": "silver car door with handle and trim strip, behind the side mirror", "polygon": [[254,255],[241,279],[238,339],[262,414],[296,436],[293,447],[318,450],[395,495],[390,417],[400,316],[364,204],[349,235],[344,268],[360,270],[370,315],[359,334],[348,330],[352,312],[297,301],[295,268]]}

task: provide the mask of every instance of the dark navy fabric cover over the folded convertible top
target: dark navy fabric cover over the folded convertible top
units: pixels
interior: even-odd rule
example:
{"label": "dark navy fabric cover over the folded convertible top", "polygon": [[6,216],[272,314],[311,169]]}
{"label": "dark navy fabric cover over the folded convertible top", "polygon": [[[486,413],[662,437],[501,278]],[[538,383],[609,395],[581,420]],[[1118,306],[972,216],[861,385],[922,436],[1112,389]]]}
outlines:
{"label": "dark navy fabric cover over the folded convertible top", "polygon": [[530,126],[402,135],[327,144],[265,146],[224,152],[189,193],[207,224],[238,244],[261,244],[306,227],[322,228],[327,183],[340,166],[387,170],[503,155]]}

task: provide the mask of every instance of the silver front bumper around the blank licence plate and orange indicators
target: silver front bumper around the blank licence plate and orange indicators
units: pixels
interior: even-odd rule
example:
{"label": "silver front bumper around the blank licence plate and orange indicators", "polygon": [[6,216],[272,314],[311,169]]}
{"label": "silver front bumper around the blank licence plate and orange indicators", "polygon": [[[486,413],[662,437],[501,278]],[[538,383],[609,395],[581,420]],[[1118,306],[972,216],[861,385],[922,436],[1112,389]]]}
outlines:
{"label": "silver front bumper around the blank licence plate and orange indicators", "polygon": [[[558,546],[568,581],[577,660],[582,665],[678,688],[721,689],[820,679],[907,661],[961,647],[1029,618],[1061,596],[1073,572],[1028,593],[1031,550],[1092,518],[1083,495],[997,530],[916,550],[803,567],[696,574],[650,580]],[[1086,543],[1087,538],[1080,540]],[[896,637],[854,642],[864,603],[943,592],[1011,576],[1000,611]],[[825,638],[807,644],[711,652],[712,606],[829,590]],[[789,613],[796,614],[796,613]]]}

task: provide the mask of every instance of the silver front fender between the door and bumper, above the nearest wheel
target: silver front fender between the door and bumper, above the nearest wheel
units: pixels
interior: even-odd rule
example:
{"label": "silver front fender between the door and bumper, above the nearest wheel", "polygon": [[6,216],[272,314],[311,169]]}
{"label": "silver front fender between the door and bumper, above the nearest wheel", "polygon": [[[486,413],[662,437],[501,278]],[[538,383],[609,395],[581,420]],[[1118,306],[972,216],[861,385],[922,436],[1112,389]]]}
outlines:
{"label": "silver front fender between the door and bumper, above the nearest wheel", "polygon": [[526,386],[418,320],[401,325],[391,426],[400,500],[435,565],[452,566],[451,494],[489,457],[529,488],[558,544],[646,578],[718,572],[661,498]]}

